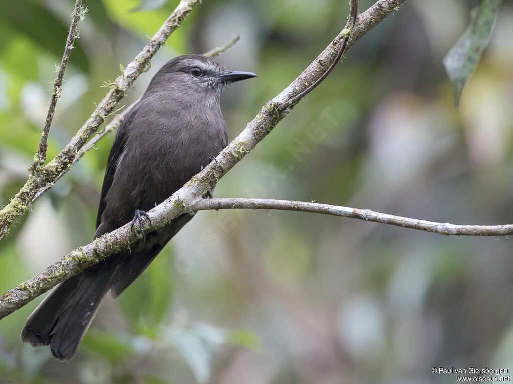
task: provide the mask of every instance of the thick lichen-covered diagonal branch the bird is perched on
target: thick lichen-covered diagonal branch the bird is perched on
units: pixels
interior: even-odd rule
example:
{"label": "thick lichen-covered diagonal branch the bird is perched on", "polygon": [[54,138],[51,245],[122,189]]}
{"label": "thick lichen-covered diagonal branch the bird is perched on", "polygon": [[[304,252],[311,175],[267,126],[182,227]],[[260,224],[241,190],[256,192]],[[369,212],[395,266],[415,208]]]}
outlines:
{"label": "thick lichen-covered diagonal branch the bird is perched on", "polygon": [[[351,28],[354,20],[350,17],[346,28],[298,78],[263,106],[257,117],[249,122],[246,129],[221,152],[216,158],[216,162],[211,162],[201,173],[194,176],[187,184],[176,191],[173,196],[148,212],[151,224],[145,230],[153,231],[168,225],[180,215],[193,214],[191,207],[198,203],[209,189],[250,153],[297,102],[286,109],[280,107],[295,95],[302,94],[309,88],[310,84],[314,84],[331,67],[350,36],[347,34],[348,28],[351,28],[351,30],[362,28],[368,31],[376,23],[368,23],[367,18],[380,18],[381,21],[391,13],[391,11],[383,13],[383,9],[388,9],[386,7],[391,4],[401,5],[403,2],[404,0],[379,0],[365,12],[366,16],[360,18],[360,23],[354,25],[354,28]],[[351,7],[353,10],[358,9],[358,0],[351,0]],[[308,80],[305,81],[305,79]],[[130,224],[126,224],[115,231],[104,234],[84,247],[75,249],[63,259],[48,267],[44,272],[6,292],[0,298],[0,318],[25,306],[35,297],[80,273],[85,268],[107,258],[110,254],[128,248],[130,244],[141,238],[142,235],[139,230],[132,231],[130,230]]]}

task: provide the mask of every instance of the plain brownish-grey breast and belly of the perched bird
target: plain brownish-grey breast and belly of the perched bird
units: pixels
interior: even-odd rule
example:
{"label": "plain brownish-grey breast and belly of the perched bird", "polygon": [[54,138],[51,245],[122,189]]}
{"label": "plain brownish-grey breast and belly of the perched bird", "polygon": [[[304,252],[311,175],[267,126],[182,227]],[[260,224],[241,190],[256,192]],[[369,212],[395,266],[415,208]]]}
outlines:
{"label": "plain brownish-grey breast and belly of the perched bird", "polygon": [[171,196],[217,156],[227,142],[220,109],[191,106],[155,111],[132,132],[124,162],[133,169],[135,200],[153,207]]}

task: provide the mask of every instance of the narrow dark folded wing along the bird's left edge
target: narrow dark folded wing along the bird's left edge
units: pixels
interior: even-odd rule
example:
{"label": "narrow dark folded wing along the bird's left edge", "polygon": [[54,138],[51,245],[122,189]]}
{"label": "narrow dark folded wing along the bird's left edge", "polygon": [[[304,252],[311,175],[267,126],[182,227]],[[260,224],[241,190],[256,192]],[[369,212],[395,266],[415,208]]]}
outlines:
{"label": "narrow dark folded wing along the bird's left edge", "polygon": [[[102,215],[105,210],[105,197],[109,192],[110,187],[112,186],[112,181],[114,180],[114,175],[116,173],[117,162],[120,159],[121,154],[123,153],[127,134],[129,131],[129,127],[132,124],[134,117],[137,115],[137,111],[139,110],[139,104],[135,105],[132,110],[128,113],[125,119],[122,121],[119,129],[116,133],[116,138],[114,139],[114,143],[112,144],[112,148],[109,154],[109,160],[107,161],[107,168],[105,169],[105,177],[103,179],[102,185],[102,194],[100,198],[100,206],[98,206],[98,215],[96,216],[96,230],[102,224]],[[96,232],[94,238],[102,236],[103,233]]]}

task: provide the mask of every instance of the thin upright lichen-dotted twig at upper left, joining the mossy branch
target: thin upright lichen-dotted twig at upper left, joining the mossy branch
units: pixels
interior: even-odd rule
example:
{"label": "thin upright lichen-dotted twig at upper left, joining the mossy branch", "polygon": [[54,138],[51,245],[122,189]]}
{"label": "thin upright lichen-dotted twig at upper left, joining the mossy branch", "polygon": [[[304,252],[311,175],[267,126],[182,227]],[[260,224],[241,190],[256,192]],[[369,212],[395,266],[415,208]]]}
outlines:
{"label": "thin upright lichen-dotted twig at upper left, joining the mossy branch", "polygon": [[82,9],[82,0],[76,0],[75,8],[71,14],[71,24],[69,26],[66,45],[64,46],[64,54],[61,60],[61,66],[59,67],[57,77],[53,82],[52,97],[50,100],[50,106],[48,107],[48,114],[46,115],[45,126],[43,127],[43,134],[41,135],[39,147],[37,148],[37,152],[30,167],[32,173],[36,172],[37,168],[40,168],[45,164],[46,150],[48,147],[48,133],[50,132],[50,126],[52,125],[53,114],[55,112],[55,104],[57,104],[57,99],[61,97],[64,72],[66,71],[66,66],[68,65],[69,55],[73,49],[75,38],[78,37],[76,26],[78,24],[78,20],[84,17],[84,13],[86,11],[87,10],[85,8]]}

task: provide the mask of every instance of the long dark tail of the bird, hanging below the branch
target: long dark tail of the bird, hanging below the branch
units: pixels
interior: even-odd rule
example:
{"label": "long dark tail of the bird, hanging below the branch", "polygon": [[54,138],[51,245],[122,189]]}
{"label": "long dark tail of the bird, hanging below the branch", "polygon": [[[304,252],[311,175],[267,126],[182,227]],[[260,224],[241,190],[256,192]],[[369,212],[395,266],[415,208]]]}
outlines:
{"label": "long dark tail of the bird, hanging below the branch", "polygon": [[22,342],[50,346],[54,358],[70,360],[116,273],[115,265],[99,263],[57,286],[27,319]]}

